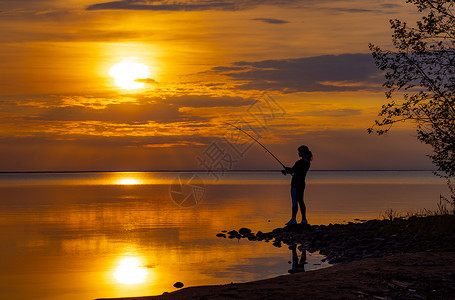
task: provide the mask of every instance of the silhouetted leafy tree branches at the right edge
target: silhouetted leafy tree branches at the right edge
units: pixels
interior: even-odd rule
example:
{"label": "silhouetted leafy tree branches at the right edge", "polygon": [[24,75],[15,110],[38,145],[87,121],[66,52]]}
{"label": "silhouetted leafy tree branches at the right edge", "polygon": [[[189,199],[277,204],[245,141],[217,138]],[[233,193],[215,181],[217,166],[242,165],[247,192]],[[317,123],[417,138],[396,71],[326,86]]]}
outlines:
{"label": "silhouetted leafy tree branches at the right edge", "polygon": [[[455,15],[454,0],[407,0],[424,16],[414,27],[390,20],[393,51],[370,44],[376,65],[385,71],[388,104],[371,133],[394,123],[414,121],[417,137],[433,147],[429,155],[440,175],[455,176]],[[402,100],[392,100],[392,94]],[[452,201],[455,203],[454,195]]]}

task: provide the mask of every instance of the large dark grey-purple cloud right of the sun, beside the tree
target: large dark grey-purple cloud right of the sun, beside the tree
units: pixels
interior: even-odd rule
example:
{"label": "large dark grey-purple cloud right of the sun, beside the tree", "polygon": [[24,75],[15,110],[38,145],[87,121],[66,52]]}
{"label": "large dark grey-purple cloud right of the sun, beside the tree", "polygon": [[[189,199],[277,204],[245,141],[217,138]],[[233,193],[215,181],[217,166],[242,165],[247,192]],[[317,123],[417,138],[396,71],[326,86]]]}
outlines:
{"label": "large dark grey-purple cloud right of the sun, beside the tree", "polygon": [[[235,71],[237,67],[240,69]],[[238,82],[239,89],[288,93],[371,90],[377,89],[383,79],[370,54],[241,61],[211,72]]]}

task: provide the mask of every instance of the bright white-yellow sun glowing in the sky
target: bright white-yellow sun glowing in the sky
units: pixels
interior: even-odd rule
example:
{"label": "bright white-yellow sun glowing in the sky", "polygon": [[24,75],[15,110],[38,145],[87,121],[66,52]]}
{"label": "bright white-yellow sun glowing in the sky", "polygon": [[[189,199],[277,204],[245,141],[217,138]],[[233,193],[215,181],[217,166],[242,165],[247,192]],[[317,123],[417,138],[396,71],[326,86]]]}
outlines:
{"label": "bright white-yellow sun glowing in the sky", "polygon": [[115,85],[121,89],[141,89],[145,84],[136,79],[149,78],[150,68],[143,63],[121,62],[112,66],[109,75],[114,78]]}

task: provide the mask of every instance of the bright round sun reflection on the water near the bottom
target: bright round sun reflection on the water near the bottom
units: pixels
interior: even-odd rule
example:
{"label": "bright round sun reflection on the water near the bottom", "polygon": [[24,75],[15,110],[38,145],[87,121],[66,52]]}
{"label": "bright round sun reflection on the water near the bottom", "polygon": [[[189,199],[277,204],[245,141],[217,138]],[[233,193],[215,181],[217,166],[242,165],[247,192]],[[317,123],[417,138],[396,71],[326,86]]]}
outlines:
{"label": "bright round sun reflection on the water near the bottom", "polygon": [[122,259],[114,272],[114,278],[122,284],[139,284],[147,278],[148,270],[138,257]]}

